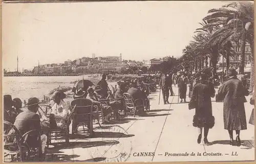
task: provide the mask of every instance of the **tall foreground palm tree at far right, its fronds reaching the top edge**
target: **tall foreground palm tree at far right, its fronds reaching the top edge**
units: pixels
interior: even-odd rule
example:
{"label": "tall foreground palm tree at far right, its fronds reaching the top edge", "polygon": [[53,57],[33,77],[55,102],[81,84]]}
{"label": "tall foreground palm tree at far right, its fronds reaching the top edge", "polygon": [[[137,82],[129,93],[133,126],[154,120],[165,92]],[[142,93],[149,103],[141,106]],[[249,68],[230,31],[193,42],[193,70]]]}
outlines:
{"label": "tall foreground palm tree at far right, its fronds reaching the top edge", "polygon": [[209,22],[208,26],[226,25],[227,28],[223,31],[237,42],[241,40],[241,74],[244,74],[246,38],[253,28],[253,11],[251,2],[232,2],[220,9],[209,10],[208,15],[203,19]]}

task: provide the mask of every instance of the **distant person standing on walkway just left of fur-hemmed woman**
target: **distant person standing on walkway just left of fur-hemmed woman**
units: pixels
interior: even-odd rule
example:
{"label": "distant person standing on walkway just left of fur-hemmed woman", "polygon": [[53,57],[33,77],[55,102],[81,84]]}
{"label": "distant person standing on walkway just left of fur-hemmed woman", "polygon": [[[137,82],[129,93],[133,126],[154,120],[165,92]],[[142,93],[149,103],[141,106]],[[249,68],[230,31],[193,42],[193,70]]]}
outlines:
{"label": "distant person standing on walkway just left of fur-hemmed woman", "polygon": [[181,77],[178,79],[178,87],[179,87],[179,95],[180,95],[181,103],[183,102],[182,99],[184,99],[184,102],[186,102],[187,83],[188,83],[188,79],[185,77],[185,73],[181,72]]}

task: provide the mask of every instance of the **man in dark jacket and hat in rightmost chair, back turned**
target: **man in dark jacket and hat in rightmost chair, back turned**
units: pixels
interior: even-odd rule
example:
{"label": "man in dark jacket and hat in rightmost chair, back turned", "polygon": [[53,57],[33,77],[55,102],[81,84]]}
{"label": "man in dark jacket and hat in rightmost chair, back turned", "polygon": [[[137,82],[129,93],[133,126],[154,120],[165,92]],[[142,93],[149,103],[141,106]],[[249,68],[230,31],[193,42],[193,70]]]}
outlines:
{"label": "man in dark jacket and hat in rightmost chair, back turned", "polygon": [[[137,99],[142,99],[143,102],[145,101],[145,99],[147,99],[145,93],[143,93],[137,86],[137,80],[132,80],[132,87],[127,91],[127,93],[129,93],[133,100],[137,100]],[[143,104],[143,102],[137,101],[136,106],[140,106]],[[144,107],[140,107],[139,109],[144,109]]]}

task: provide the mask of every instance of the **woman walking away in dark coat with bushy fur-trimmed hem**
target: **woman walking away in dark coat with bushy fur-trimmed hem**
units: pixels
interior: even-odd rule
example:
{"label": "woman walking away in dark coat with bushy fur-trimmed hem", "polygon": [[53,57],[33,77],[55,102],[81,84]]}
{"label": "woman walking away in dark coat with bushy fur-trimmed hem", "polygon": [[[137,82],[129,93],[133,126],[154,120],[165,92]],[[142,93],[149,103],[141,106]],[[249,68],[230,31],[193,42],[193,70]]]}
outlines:
{"label": "woman walking away in dark coat with bushy fur-trimmed hem", "polygon": [[215,118],[212,116],[211,97],[215,97],[214,84],[208,81],[208,74],[202,74],[201,80],[193,88],[191,101],[195,103],[196,114],[193,119],[193,126],[198,128],[199,135],[197,143],[201,143],[202,131],[204,128],[204,144],[209,144],[207,135],[209,128],[214,127]]}

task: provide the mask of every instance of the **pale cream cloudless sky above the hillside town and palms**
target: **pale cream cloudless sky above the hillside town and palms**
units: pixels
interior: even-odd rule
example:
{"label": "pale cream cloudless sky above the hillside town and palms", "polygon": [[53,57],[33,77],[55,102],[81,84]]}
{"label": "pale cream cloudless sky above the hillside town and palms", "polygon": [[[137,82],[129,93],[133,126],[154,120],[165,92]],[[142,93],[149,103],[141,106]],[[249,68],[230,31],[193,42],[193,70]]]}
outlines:
{"label": "pale cream cloudless sky above the hillside town and palms", "polygon": [[15,71],[70,59],[180,57],[199,22],[227,2],[3,4],[3,68]]}

